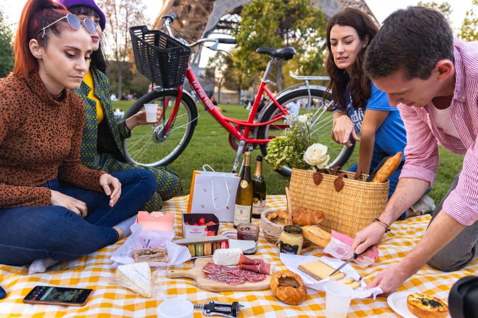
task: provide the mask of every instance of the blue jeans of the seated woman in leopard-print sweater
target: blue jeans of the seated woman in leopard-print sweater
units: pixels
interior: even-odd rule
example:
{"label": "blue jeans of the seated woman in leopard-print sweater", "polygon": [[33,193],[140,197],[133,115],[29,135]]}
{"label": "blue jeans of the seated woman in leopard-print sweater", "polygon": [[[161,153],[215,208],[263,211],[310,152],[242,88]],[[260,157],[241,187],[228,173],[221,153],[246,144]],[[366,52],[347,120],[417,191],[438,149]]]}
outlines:
{"label": "blue jeans of the seated woman in leopard-print sweater", "polygon": [[85,202],[85,219],[54,205],[0,209],[0,263],[18,266],[47,257],[71,260],[115,243],[119,236],[112,227],[137,213],[156,192],[157,183],[146,169],[112,175],[121,182],[121,196],[113,207],[104,192],[58,179],[41,185]]}

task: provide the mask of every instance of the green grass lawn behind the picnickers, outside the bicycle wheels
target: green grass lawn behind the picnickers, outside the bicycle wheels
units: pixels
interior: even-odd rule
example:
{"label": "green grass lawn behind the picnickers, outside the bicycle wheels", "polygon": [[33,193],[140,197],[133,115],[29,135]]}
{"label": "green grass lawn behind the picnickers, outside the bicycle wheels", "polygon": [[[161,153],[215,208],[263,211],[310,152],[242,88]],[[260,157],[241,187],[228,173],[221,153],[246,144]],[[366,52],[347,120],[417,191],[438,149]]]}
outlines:
{"label": "green grass lawn behind the picnickers, outside the bicycle wheels", "polygon": [[[114,109],[120,108],[126,111],[132,102],[118,101],[112,104]],[[238,119],[247,118],[248,111],[241,105],[220,106],[227,111],[223,113],[225,116]],[[203,164],[207,163],[216,171],[230,172],[236,156],[236,152],[229,145],[229,133],[208,112],[204,111],[201,104],[198,104],[198,114],[198,124],[188,147],[178,159],[169,165],[181,176],[183,181],[181,195],[189,193],[193,170],[202,170]],[[332,143],[332,140],[330,142]],[[345,168],[357,162],[358,153],[358,147],[356,147]],[[257,155],[261,155],[259,149],[252,152],[253,161]],[[436,204],[448,192],[453,178],[460,171],[462,164],[463,156],[455,155],[440,147],[440,166],[435,188],[429,193]],[[263,170],[267,193],[284,194],[284,188],[288,186],[289,179],[272,170],[267,164],[263,165]]]}

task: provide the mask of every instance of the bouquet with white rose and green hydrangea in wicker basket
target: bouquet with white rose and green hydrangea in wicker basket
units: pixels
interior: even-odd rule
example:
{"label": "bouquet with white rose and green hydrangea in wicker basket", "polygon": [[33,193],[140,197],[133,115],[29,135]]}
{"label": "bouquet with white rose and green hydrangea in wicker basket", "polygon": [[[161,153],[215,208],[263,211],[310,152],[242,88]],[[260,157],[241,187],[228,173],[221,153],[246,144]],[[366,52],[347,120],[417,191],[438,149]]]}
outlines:
{"label": "bouquet with white rose and green hydrangea in wicker basket", "polygon": [[265,159],[271,167],[283,165],[298,169],[322,169],[329,162],[327,146],[315,143],[310,134],[310,114],[284,116],[289,125],[281,136],[272,139],[267,146]]}

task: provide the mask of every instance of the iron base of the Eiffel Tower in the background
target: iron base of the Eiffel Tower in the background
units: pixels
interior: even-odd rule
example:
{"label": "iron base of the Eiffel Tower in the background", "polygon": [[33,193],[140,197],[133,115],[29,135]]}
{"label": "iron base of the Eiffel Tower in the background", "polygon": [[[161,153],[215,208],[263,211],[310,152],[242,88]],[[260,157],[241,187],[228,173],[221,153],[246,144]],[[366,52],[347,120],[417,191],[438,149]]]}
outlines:
{"label": "iron base of the Eiffel Tower in the background", "polygon": [[[163,0],[163,6],[153,24],[153,29],[162,26],[161,16],[176,12],[178,18],[172,26],[186,39],[199,39],[211,33],[229,34],[240,21],[242,6],[249,0]],[[364,0],[310,0],[315,8],[322,8],[327,19],[342,10],[353,6],[377,19]],[[377,21],[377,24],[379,22]]]}

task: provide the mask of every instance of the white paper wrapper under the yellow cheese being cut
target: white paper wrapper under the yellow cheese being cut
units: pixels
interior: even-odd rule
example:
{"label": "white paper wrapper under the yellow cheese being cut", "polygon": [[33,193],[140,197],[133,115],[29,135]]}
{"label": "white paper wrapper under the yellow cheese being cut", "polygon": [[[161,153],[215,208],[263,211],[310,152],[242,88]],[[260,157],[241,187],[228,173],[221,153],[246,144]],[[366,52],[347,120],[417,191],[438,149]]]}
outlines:
{"label": "white paper wrapper under the yellow cheese being cut", "polygon": [[[344,263],[344,261],[336,259],[336,258],[317,257],[312,255],[303,256],[303,255],[294,255],[294,254],[285,254],[285,253],[280,253],[280,260],[287,267],[288,270],[296,273],[297,275],[300,276],[300,278],[302,278],[302,282],[304,283],[305,286],[321,291],[321,292],[325,291],[325,285],[327,283],[335,282],[335,279],[328,277],[326,279],[322,279],[318,281],[315,278],[312,278],[306,273],[300,271],[298,269],[299,265],[320,260],[333,268],[337,268]],[[359,280],[360,278],[359,273],[352,266],[350,266],[350,264],[345,265],[345,267],[342,268],[340,271],[346,274],[345,278],[351,277],[356,280]],[[360,287],[354,289],[354,296],[352,296],[352,298],[363,299],[363,298],[368,298],[370,296],[373,296],[373,299],[375,299],[375,297],[378,294],[381,294],[383,292],[380,287],[363,290],[365,286],[367,286],[367,284],[365,284],[365,282],[362,279],[360,281]]]}

